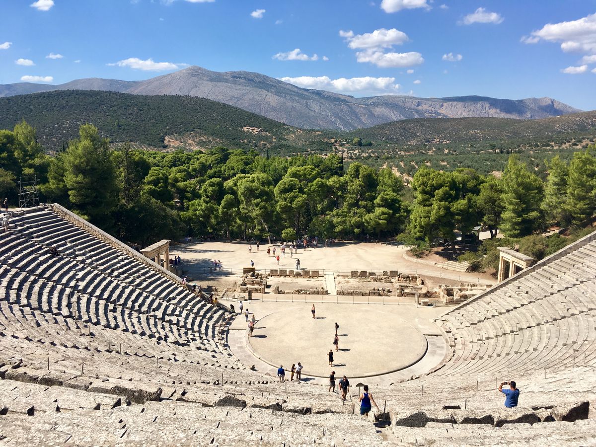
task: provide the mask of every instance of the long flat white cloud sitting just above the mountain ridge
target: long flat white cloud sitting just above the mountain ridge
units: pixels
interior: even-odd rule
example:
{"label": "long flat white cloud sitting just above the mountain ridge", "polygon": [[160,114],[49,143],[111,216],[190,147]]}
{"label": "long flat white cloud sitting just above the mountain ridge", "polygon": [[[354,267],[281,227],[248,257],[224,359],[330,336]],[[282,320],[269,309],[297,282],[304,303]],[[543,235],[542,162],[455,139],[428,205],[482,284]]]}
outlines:
{"label": "long flat white cloud sitting just above the mountain ridge", "polygon": [[352,77],[346,79],[331,79],[328,76],[299,76],[282,77],[284,82],[289,82],[302,88],[328,90],[346,94],[364,95],[396,95],[400,94],[401,86],[395,83],[395,77]]}

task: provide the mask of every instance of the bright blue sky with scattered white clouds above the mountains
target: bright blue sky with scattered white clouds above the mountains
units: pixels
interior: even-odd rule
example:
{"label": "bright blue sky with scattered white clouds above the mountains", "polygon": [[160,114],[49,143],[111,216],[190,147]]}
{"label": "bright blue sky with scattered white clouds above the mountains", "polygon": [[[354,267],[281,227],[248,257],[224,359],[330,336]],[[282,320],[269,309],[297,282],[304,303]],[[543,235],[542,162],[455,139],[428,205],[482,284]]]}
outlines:
{"label": "bright blue sky with scattered white clouds above the mountains", "polygon": [[197,65],[354,96],[548,96],[596,109],[596,0],[0,0],[0,10],[0,83]]}

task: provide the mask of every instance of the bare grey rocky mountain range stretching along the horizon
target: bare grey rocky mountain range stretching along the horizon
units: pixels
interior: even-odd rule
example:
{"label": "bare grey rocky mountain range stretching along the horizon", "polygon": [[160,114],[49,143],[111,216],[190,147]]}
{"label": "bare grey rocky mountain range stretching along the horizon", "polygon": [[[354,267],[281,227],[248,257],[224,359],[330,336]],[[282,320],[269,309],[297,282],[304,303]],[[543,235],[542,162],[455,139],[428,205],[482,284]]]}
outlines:
{"label": "bare grey rocky mountain range stretching along the horizon", "polygon": [[306,129],[352,130],[412,118],[541,119],[581,111],[552,98],[502,100],[480,96],[415,98],[396,95],[355,98],[300,88],[260,73],[212,72],[196,66],[139,81],[88,78],[60,85],[5,84],[0,85],[0,97],[54,90],[200,97]]}

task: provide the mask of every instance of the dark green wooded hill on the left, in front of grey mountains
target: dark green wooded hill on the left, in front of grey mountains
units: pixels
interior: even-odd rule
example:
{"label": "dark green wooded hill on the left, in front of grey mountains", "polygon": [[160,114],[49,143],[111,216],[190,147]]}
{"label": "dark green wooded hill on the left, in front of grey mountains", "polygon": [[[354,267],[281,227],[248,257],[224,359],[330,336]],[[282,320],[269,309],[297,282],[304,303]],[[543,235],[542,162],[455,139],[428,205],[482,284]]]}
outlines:
{"label": "dark green wooded hill on the left, in front of grey mountains", "polygon": [[[113,142],[160,148],[185,138],[198,148],[261,147],[285,141],[296,129],[231,105],[204,98],[131,95],[101,91],[54,91],[0,98],[0,129],[25,119],[48,150],[75,138],[83,123]],[[302,131],[300,131],[302,132]]]}

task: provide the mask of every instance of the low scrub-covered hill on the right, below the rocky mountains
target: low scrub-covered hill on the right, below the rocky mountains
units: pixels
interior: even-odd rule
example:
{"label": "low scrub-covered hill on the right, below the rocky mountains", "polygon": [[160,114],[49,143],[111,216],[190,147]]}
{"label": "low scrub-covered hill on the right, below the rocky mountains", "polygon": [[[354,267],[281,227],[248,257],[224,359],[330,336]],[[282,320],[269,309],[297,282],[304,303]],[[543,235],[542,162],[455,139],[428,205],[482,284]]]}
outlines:
{"label": "low scrub-covered hill on the right, below the rocky mountains", "polygon": [[539,120],[505,118],[412,119],[357,129],[347,134],[371,141],[404,145],[424,142],[501,141],[507,139],[544,139],[576,132],[596,133],[596,111],[573,113]]}

